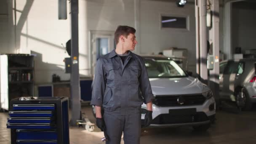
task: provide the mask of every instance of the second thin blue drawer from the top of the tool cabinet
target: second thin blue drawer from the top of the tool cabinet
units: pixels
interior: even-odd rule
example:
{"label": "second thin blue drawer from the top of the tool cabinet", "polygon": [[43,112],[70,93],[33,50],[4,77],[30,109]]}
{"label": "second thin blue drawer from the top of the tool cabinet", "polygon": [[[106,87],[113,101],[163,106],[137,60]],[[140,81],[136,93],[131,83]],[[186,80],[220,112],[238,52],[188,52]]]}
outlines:
{"label": "second thin blue drawer from the top of the tool cabinet", "polygon": [[10,117],[51,117],[53,111],[10,111]]}

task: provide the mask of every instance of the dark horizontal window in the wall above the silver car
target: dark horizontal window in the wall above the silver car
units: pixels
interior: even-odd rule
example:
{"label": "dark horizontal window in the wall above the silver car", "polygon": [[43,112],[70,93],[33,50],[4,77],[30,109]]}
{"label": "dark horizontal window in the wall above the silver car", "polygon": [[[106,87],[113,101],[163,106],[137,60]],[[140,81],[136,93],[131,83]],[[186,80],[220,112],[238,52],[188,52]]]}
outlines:
{"label": "dark horizontal window in the wall above the silver car", "polygon": [[161,27],[187,29],[187,18],[176,16],[161,16]]}

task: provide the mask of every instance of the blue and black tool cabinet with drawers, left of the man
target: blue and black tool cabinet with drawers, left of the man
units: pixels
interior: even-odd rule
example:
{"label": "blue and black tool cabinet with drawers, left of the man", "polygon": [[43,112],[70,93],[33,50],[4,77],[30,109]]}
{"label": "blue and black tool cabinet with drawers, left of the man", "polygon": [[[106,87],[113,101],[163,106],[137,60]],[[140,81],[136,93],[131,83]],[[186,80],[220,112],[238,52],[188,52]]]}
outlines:
{"label": "blue and black tool cabinet with drawers, left of the man", "polygon": [[10,104],[11,144],[69,144],[67,97],[17,98]]}

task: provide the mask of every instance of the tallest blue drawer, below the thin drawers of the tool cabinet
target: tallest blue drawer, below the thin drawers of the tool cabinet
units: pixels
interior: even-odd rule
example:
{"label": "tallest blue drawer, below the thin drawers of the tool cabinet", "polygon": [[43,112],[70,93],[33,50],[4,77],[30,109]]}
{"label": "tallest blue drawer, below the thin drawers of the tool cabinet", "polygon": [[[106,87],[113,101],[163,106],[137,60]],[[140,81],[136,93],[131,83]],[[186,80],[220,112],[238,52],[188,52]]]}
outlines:
{"label": "tallest blue drawer, below the thin drawers of the tool cabinet", "polygon": [[45,129],[36,129],[36,130],[16,130],[16,139],[17,140],[57,140],[57,131],[56,130],[45,130]]}

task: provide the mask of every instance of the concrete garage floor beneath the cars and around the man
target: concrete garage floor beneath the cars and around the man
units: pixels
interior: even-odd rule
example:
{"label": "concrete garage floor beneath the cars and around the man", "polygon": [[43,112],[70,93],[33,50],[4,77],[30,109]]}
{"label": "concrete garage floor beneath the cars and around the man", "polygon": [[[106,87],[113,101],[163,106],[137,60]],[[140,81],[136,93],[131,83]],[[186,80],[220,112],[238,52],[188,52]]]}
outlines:
{"label": "concrete garage floor beneath the cars and around the man", "polygon": [[[95,119],[91,107],[83,106],[82,111],[88,115],[91,122]],[[0,144],[10,144],[10,130],[6,128],[8,113],[0,112]],[[256,143],[256,115],[251,112],[234,114],[225,111],[216,113],[216,124],[207,132],[199,133],[190,127],[179,128],[144,128],[141,144],[255,144]],[[103,133],[99,128],[93,132],[84,128],[69,128],[70,144],[104,144],[101,142]],[[123,144],[123,139],[121,144]]]}

